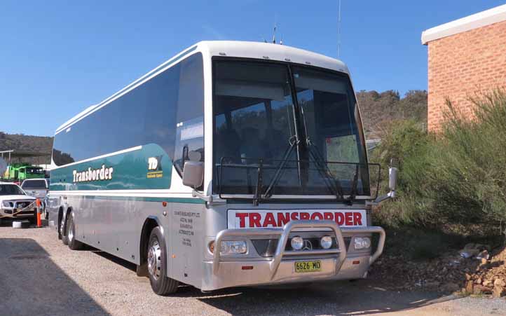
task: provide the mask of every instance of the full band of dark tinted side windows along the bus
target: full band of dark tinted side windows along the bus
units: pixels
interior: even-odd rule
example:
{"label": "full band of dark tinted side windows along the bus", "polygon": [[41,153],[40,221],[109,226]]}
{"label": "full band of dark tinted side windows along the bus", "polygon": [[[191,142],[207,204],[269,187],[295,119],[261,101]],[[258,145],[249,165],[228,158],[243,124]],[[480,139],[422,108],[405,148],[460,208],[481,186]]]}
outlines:
{"label": "full band of dark tinted side windows along the bus", "polygon": [[54,163],[146,144],[158,144],[171,160],[182,158],[186,145],[203,160],[202,63],[200,53],[192,55],[58,133]]}

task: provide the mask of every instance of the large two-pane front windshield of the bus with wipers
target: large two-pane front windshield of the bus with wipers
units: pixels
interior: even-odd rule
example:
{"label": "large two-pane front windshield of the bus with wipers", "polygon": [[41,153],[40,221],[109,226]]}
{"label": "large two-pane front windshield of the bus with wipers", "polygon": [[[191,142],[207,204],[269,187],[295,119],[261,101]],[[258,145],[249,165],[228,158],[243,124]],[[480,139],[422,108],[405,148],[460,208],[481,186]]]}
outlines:
{"label": "large two-pane front windshield of the bus with wipers", "polygon": [[240,60],[215,60],[213,74],[215,193],[369,195],[346,74]]}

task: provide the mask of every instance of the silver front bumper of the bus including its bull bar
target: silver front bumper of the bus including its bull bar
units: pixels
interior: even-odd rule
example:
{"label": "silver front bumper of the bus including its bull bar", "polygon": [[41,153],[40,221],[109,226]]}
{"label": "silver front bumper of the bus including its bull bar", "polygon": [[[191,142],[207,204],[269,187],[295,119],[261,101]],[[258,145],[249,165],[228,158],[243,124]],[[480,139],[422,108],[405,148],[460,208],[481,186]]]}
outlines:
{"label": "silver front bumper of the bus including its bull bar", "polygon": [[[285,250],[289,234],[299,228],[331,228],[336,236],[337,249],[294,252]],[[374,254],[350,254],[343,239],[346,234],[378,233],[378,246]],[[220,256],[222,240],[247,236],[280,235],[278,247],[270,260],[224,261]],[[364,228],[340,228],[334,221],[290,221],[279,229],[230,229],[218,233],[214,243],[214,258],[204,261],[203,291],[225,287],[313,282],[317,280],[349,280],[366,275],[371,263],[383,252],[385,231],[378,226]],[[296,258],[296,259],[294,259]],[[320,260],[318,272],[296,273],[294,263],[303,260]],[[247,266],[248,270],[243,267]],[[252,268],[251,268],[252,267]]]}

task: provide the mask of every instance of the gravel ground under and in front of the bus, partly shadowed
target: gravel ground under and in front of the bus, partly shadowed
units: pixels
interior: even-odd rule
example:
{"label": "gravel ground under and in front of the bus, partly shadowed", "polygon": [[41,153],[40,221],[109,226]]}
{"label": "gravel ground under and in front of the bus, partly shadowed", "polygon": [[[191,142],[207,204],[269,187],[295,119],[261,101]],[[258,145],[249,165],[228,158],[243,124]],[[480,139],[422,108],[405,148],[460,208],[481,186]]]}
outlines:
{"label": "gravel ground under and in front of the bus, partly shadowed", "polygon": [[506,299],[387,291],[370,281],[299,289],[183,286],[156,296],[135,266],[102,252],[74,252],[49,228],[0,226],[0,315],[506,315]]}

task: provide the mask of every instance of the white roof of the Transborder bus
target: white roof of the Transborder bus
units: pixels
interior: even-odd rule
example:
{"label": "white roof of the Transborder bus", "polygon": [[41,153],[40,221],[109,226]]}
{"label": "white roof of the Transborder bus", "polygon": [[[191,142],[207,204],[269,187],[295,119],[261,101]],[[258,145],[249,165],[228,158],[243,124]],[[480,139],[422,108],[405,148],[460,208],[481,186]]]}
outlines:
{"label": "white roof of the Transborder bus", "polygon": [[313,53],[308,50],[303,50],[300,48],[294,48],[274,43],[262,43],[252,41],[200,41],[195,45],[190,46],[185,50],[182,50],[181,53],[175,55],[166,62],[163,62],[163,64],[160,64],[158,67],[152,69],[147,74],[144,74],[144,76],[141,76],[137,80],[125,86],[125,88],[114,93],[114,95],[107,97],[107,99],[104,99],[99,104],[92,105],[91,107],[88,107],[84,111],[81,111],[81,113],[77,114],[73,118],[69,119],[67,122],[60,125],[60,127],[57,128],[55,134],[71,127],[71,125],[79,121],[81,118],[92,113],[95,109],[99,109],[108,104],[111,101],[111,99],[114,99],[118,95],[128,92],[133,87],[135,87],[137,83],[144,81],[146,78],[149,78],[149,76],[152,76],[157,71],[160,71],[164,67],[167,67],[169,64],[175,62],[176,60],[181,59],[182,57],[186,57],[186,55],[189,55],[194,51],[200,51],[205,55],[207,54],[208,56],[245,57],[254,59],[275,60],[281,62],[294,62],[297,64],[309,64],[312,66],[333,69],[336,71],[341,71],[345,72],[346,74],[349,74],[348,67],[346,67],[346,64],[341,62],[341,60],[336,60],[334,58],[321,55],[318,53]]}

